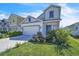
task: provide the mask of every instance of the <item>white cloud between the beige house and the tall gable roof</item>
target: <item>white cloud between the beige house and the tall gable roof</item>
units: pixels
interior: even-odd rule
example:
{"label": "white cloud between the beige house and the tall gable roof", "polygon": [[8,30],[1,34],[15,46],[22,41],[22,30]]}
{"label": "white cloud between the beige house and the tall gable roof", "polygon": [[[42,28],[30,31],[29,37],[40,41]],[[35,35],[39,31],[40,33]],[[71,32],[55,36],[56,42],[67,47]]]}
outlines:
{"label": "white cloud between the beige house and the tall gable roof", "polygon": [[42,13],[42,11],[37,10],[35,12],[21,12],[18,15],[22,16],[22,17],[27,17],[28,15],[33,16],[33,17],[38,17],[40,14]]}

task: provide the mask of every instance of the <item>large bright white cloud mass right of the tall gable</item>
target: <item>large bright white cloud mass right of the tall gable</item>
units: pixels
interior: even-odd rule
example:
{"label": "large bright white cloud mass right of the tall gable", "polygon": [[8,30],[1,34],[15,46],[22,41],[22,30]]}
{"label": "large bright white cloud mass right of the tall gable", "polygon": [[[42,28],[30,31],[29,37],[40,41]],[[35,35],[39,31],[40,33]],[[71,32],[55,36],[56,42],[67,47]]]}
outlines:
{"label": "large bright white cloud mass right of the tall gable", "polygon": [[61,18],[60,26],[68,26],[73,23],[79,22],[79,10],[69,7],[67,4],[58,4],[61,8]]}

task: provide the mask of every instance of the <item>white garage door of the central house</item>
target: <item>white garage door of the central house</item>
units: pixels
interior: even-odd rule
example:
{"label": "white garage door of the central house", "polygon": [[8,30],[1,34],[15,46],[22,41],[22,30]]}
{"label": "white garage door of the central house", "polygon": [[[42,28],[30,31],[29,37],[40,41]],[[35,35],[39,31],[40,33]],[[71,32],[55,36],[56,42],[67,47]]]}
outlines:
{"label": "white garage door of the central house", "polygon": [[39,32],[39,26],[25,26],[23,27],[24,35],[34,35]]}

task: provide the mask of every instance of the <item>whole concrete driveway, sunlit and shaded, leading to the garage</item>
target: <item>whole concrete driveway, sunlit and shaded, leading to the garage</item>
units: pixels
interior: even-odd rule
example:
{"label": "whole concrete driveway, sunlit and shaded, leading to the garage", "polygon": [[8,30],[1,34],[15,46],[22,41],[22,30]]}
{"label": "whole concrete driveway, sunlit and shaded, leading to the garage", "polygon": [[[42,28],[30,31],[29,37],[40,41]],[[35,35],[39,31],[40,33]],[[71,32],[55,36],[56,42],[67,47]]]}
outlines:
{"label": "whole concrete driveway, sunlit and shaded, leading to the garage", "polygon": [[25,35],[0,39],[0,52],[13,48],[17,43],[22,44],[27,42],[29,39],[31,39],[31,37]]}

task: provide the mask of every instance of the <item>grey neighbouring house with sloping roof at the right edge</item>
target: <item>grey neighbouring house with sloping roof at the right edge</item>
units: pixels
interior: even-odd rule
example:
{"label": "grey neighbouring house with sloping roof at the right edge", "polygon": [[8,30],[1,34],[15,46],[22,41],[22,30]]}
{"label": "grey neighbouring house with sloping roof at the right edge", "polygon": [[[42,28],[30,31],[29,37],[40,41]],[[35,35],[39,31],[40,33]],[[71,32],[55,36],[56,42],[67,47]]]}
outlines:
{"label": "grey neighbouring house with sloping roof at the right edge", "polygon": [[74,23],[70,26],[65,27],[70,30],[70,33],[74,36],[79,36],[79,22]]}

